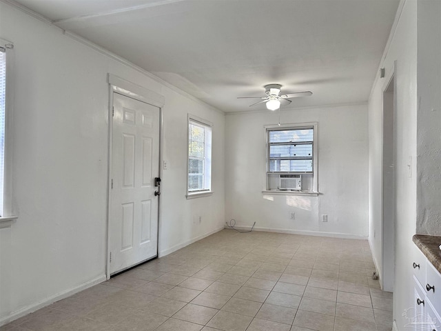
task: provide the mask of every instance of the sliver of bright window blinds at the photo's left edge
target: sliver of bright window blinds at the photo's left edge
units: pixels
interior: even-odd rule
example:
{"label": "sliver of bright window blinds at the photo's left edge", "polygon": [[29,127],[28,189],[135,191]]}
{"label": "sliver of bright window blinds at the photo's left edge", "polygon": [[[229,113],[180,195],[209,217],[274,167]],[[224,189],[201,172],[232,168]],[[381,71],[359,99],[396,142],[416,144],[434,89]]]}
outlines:
{"label": "sliver of bright window blinds at the photo's left edge", "polygon": [[5,168],[6,49],[0,47],[0,216],[3,216],[3,179]]}

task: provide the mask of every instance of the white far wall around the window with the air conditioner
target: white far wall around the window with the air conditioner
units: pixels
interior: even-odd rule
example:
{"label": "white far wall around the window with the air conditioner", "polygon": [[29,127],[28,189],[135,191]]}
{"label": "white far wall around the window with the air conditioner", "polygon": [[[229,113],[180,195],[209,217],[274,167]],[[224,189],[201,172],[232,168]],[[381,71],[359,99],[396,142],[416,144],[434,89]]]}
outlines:
{"label": "white far wall around the window with the air conditioner", "polygon": [[[282,123],[318,122],[318,197],[263,194],[265,125],[277,112],[227,114],[225,218],[237,225],[291,233],[367,237],[367,106],[291,109]],[[289,212],[296,219],[289,219]],[[321,214],[328,215],[322,223]]]}

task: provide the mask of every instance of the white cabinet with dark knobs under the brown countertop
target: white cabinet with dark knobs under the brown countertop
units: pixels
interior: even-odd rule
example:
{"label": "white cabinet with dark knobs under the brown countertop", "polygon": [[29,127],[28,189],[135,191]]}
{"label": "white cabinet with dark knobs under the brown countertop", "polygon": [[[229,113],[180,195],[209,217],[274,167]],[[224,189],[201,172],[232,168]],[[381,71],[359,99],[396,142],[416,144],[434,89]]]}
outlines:
{"label": "white cabinet with dark knobs under the brown countertop", "polygon": [[[441,274],[417,248],[413,268],[413,330],[441,331]],[[410,325],[409,325],[410,326]]]}

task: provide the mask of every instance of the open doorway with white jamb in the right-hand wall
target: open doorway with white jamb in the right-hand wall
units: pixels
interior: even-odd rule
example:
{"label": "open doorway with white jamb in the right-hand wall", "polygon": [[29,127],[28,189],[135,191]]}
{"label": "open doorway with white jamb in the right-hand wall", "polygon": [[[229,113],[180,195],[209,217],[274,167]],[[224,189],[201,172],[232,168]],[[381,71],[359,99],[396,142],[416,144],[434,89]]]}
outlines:
{"label": "open doorway with white jamb in the right-hand wall", "polygon": [[[394,61],[393,63],[393,72],[391,72],[387,77],[385,77],[385,83],[382,87],[382,155],[381,155],[381,268],[382,274],[380,274],[380,286],[381,289],[388,292],[393,292],[393,281],[395,277],[395,229],[396,229],[396,120],[397,120],[397,76],[396,76],[397,63]],[[393,84],[393,85],[391,85]],[[390,112],[390,108],[384,109],[384,94],[390,93],[388,90],[393,88],[392,102],[392,141],[387,141],[386,143],[392,143],[392,162],[393,162],[393,172],[390,175],[392,178],[392,197],[389,199],[386,205],[386,197],[384,197],[384,177],[386,176],[384,172],[384,112]],[[386,208],[391,209],[392,217],[387,220],[384,219],[384,210]],[[390,222],[390,223],[389,223]],[[385,246],[388,243],[392,245],[391,252],[389,250],[385,250]],[[391,254],[388,254],[391,253]]]}

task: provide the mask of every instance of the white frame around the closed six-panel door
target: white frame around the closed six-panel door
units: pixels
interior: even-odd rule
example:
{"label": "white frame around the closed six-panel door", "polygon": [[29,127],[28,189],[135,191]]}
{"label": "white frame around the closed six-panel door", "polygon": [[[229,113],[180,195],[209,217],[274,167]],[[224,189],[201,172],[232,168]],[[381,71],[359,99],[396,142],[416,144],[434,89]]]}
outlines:
{"label": "white frame around the closed six-panel door", "polygon": [[[108,122],[109,130],[107,132],[107,213],[106,213],[106,264],[105,264],[105,277],[110,279],[110,232],[109,232],[109,221],[110,221],[110,186],[112,181],[112,145],[113,145],[113,97],[114,93],[124,95],[131,99],[141,101],[143,103],[148,103],[152,106],[159,108],[159,159],[158,159],[158,169],[159,177],[163,177],[163,169],[161,164],[163,164],[163,107],[165,103],[165,97],[158,94],[152,90],[147,90],[142,86],[136,85],[130,81],[126,81],[114,74],[107,74],[107,83],[109,84],[109,112],[108,112]],[[156,254],[159,254],[159,229],[161,223],[161,199],[158,201],[158,233],[156,241]]]}

